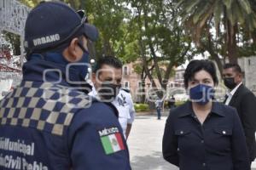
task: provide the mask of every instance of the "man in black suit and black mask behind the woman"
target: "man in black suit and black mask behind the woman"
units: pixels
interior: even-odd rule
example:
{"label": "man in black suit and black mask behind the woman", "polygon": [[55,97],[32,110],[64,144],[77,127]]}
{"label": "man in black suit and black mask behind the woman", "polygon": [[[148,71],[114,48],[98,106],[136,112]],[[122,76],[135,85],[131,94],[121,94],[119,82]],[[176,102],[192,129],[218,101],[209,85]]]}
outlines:
{"label": "man in black suit and black mask behind the woman", "polygon": [[224,65],[224,84],[230,89],[224,100],[225,105],[236,108],[247,140],[250,161],[256,157],[256,98],[242,83],[241,68],[237,64]]}

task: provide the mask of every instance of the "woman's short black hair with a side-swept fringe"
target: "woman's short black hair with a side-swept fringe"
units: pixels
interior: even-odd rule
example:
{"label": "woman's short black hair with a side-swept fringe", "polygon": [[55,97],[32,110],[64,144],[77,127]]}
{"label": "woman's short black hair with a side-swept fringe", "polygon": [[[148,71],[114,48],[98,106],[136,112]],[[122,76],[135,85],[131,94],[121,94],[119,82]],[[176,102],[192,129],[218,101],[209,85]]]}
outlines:
{"label": "woman's short black hair with a side-swept fringe", "polygon": [[218,77],[214,63],[207,59],[195,59],[189,62],[189,65],[183,75],[185,88],[189,87],[189,81],[195,77],[195,73],[201,70],[207,71],[212,76],[214,84],[218,84]]}

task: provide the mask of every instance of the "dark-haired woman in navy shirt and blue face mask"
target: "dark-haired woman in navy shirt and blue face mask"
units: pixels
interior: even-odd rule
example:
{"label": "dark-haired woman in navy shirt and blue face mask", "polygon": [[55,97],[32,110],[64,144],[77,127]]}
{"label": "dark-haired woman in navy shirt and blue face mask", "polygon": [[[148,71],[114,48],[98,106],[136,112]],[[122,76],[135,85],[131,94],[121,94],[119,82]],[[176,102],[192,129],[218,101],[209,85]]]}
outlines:
{"label": "dark-haired woman in navy shirt and blue face mask", "polygon": [[163,156],[180,170],[250,170],[240,119],[235,109],[212,101],[218,85],[215,65],[193,60],[184,73],[188,101],[166,120]]}

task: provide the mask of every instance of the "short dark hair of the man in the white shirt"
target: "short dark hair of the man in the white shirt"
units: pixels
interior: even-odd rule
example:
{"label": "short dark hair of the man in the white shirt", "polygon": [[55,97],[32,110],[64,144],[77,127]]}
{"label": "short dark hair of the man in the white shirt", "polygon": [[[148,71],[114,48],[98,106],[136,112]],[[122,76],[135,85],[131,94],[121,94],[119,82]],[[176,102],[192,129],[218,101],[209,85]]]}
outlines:
{"label": "short dark hair of the man in the white shirt", "polygon": [[104,56],[96,61],[96,65],[93,69],[93,72],[102,69],[103,65],[113,66],[113,68],[116,69],[121,69],[123,67],[123,64],[120,61],[120,59],[113,56]]}

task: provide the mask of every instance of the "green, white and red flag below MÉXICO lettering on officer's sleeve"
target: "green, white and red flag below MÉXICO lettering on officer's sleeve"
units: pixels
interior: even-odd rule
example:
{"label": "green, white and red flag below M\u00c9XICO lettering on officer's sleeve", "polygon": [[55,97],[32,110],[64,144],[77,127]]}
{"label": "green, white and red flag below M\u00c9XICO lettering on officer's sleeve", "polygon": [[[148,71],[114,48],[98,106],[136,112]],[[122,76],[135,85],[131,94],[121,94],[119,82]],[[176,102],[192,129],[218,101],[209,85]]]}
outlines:
{"label": "green, white and red flag below M\u00c9XICO lettering on officer's sleeve", "polygon": [[119,150],[125,150],[123,139],[119,132],[101,136],[101,140],[102,146],[107,155],[113,154]]}

